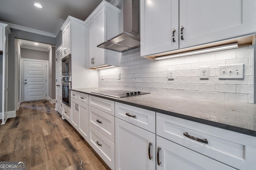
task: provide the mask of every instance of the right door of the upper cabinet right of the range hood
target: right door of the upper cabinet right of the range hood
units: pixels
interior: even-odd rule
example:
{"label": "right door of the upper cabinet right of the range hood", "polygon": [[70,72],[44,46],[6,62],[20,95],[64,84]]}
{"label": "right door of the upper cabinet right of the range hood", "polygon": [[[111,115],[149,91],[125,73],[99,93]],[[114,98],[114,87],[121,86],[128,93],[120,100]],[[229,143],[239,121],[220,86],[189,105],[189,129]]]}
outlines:
{"label": "right door of the upper cabinet right of the range hood", "polygon": [[256,32],[255,0],[180,0],[180,48]]}

